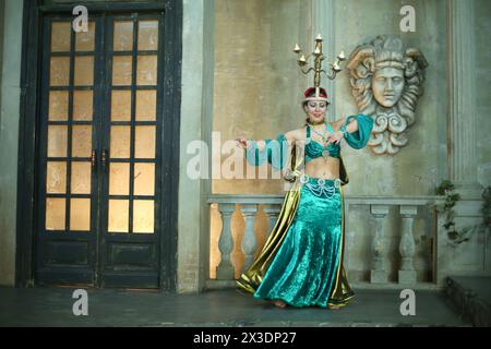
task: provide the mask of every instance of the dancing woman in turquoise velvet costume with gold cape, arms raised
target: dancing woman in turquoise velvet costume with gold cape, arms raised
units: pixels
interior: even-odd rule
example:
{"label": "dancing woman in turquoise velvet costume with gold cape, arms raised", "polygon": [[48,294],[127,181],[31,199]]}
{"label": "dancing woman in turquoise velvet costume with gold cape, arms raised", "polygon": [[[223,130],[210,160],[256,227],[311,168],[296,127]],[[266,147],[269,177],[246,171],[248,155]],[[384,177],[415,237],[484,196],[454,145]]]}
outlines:
{"label": "dancing woman in turquoise velvet costume with gold cape, arms raised", "polygon": [[311,87],[304,93],[304,127],[276,141],[237,140],[249,164],[267,160],[287,169],[284,178],[294,183],[260,255],[237,281],[239,289],[279,308],[338,309],[355,296],[343,267],[348,176],[340,141],[363,148],[373,120],[358,115],[326,122],[328,104],[324,88]]}

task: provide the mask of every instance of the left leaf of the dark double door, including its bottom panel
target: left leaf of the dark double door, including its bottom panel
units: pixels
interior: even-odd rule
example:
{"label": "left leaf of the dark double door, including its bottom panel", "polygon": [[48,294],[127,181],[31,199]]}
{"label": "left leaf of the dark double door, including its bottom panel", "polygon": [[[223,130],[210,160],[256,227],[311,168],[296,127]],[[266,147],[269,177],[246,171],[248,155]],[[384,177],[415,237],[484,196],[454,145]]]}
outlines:
{"label": "left leaf of the dark double door, including its bottom panel", "polygon": [[[94,284],[97,216],[94,109],[100,22],[75,33],[72,17],[45,19],[40,108],[40,282]],[[70,272],[69,272],[70,270]]]}

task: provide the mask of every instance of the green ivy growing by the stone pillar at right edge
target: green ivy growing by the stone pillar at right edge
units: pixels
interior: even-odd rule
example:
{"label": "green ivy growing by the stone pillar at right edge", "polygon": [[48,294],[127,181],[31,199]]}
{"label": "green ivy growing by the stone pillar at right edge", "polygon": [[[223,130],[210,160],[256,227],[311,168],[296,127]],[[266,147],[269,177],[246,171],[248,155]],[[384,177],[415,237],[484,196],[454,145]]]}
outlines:
{"label": "green ivy growing by the stone pillar at right edge", "polygon": [[454,183],[450,180],[444,180],[442,183],[435,189],[436,195],[444,195],[445,202],[443,206],[440,206],[440,210],[443,210],[445,215],[445,224],[443,227],[445,228],[448,239],[452,240],[455,244],[460,244],[470,239],[470,233],[476,229],[489,229],[491,225],[491,186],[488,186],[482,192],[483,205],[481,208],[481,213],[483,216],[483,220],[478,226],[464,227],[460,230],[455,228],[455,210],[454,207],[457,202],[460,200],[460,195],[456,192]]}

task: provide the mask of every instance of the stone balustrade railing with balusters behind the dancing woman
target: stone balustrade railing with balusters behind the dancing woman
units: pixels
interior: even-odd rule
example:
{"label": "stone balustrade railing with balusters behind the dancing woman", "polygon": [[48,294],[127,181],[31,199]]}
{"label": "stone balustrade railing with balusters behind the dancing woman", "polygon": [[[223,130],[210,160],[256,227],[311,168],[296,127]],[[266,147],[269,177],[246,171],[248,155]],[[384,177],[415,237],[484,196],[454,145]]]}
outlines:
{"label": "stone balustrade railing with balusters behind the dancing woman", "polygon": [[[218,209],[221,219],[221,231],[218,240],[218,251],[220,254],[220,262],[216,266],[216,278],[209,279],[207,282],[208,288],[221,288],[233,285],[233,279],[237,275],[247,269],[252,263],[254,254],[260,248],[254,233],[254,222],[259,214],[259,206],[261,205],[262,212],[267,216],[268,228],[267,233],[273,228],[279,214],[280,205],[284,196],[280,195],[211,195],[208,204],[214,204]],[[384,288],[394,286],[394,282],[388,281],[388,270],[384,266],[383,258],[386,253],[385,237],[386,219],[390,212],[396,209],[398,219],[400,220],[400,231],[398,241],[398,255],[391,256],[400,261],[397,275],[397,285],[399,286],[415,286],[417,284],[417,270],[415,268],[415,218],[418,213],[427,210],[428,217],[430,217],[431,231],[431,263],[433,281],[428,282],[431,288],[431,284],[434,282],[435,268],[436,268],[436,237],[439,231],[439,213],[436,210],[436,204],[443,202],[440,196],[348,196],[345,195],[345,232],[348,231],[350,219],[349,212],[355,205],[364,206],[369,210],[372,224],[368,225],[372,230],[370,236],[370,261],[367,263],[370,265],[369,280],[364,284],[380,286]],[[237,214],[237,210],[243,217],[243,234],[239,242],[243,252],[243,264],[240,270],[236,269],[232,263],[231,253],[235,246],[232,237],[231,221],[232,215]],[[237,243],[237,242],[236,242]],[[345,237],[345,250],[349,250],[349,241]],[[345,262],[347,262],[345,260]],[[397,262],[398,263],[398,262]],[[355,282],[356,284],[356,282]]]}

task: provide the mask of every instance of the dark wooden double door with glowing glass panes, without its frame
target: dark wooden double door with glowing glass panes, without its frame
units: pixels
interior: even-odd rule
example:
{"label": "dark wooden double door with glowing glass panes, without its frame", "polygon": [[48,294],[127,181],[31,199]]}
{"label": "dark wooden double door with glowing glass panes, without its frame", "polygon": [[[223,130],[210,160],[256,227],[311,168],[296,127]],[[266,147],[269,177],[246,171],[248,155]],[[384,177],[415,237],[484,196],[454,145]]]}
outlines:
{"label": "dark wooden double door with glowing glass panes, without its frame", "polygon": [[164,15],[43,21],[37,284],[157,288]]}

